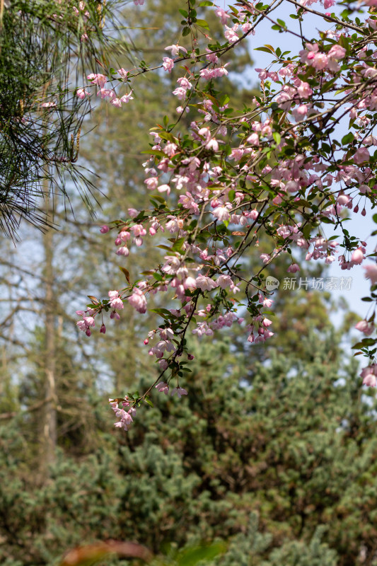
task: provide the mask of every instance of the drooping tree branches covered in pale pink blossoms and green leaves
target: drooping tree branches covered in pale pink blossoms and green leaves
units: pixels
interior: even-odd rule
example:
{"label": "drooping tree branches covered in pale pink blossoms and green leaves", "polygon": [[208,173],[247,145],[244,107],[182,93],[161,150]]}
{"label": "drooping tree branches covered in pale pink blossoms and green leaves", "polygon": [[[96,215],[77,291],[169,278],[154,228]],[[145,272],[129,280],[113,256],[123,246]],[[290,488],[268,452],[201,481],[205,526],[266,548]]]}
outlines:
{"label": "drooping tree branches covered in pale pink blossoms and green leaves", "polygon": [[[134,4],[134,9],[144,9],[144,0]],[[275,16],[282,5],[289,23]],[[118,417],[115,426],[127,430],[141,403],[151,404],[153,389],[178,397],[190,393],[185,379],[193,358],[189,333],[209,337],[236,324],[252,344],[273,340],[269,316],[273,318],[274,299],[265,270],[281,254],[291,258],[289,272],[300,270],[301,259],[339,261],[342,270],[364,269],[371,282],[371,296],[366,297],[371,308],[356,325],[361,340],[354,347],[368,358],[363,383],[376,386],[377,230],[368,242],[360,241],[345,224],[352,211],[366,216],[377,204],[375,6],[377,0],[340,6],[335,0],[240,0],[224,9],[209,0],[188,0],[179,10],[182,29],[166,46],[160,66],[149,69],[143,62],[138,69],[116,71],[103,65],[77,89],[79,98],[97,95],[121,112],[136,96],[133,84],[139,75],[180,71],[173,91],[177,115],[153,129],[145,152],[151,207],[128,209],[127,218],[100,229],[115,237],[127,285],[110,290],[106,299],[90,296],[86,310],[77,311],[80,330],[90,336],[98,321],[105,333],[104,316],[120,318],[125,301],[140,316],[148,312],[152,294],[166,296],[170,306],[153,309],[161,324],[143,337],[159,366],[158,378],[143,393],[110,400]],[[221,44],[211,40],[207,10],[214,10],[224,26]],[[315,37],[303,33],[313,14],[320,18],[319,30],[311,28]],[[298,37],[301,50],[282,52],[263,45],[258,30],[264,21],[279,33]],[[190,48],[180,45],[185,36]],[[251,36],[270,62],[256,69],[259,94],[247,108],[234,110],[213,79],[236,71],[224,56]],[[182,134],[186,113],[190,132]],[[342,135],[344,124],[348,133]],[[265,234],[273,244],[261,253],[258,238]],[[146,238],[155,239],[161,255],[131,281],[127,258],[142,250]],[[259,266],[250,274],[243,258],[254,248]]]}

